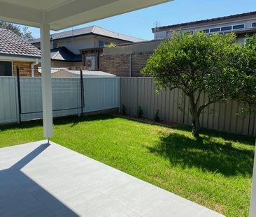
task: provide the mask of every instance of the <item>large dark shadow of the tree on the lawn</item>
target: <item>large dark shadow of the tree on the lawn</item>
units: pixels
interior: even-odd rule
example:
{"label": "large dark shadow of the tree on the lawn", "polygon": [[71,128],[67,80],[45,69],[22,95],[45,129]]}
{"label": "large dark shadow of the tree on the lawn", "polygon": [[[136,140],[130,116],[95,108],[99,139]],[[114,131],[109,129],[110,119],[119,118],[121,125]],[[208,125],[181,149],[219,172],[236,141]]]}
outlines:
{"label": "large dark shadow of the tree on the lawn", "polygon": [[156,147],[148,149],[168,158],[172,165],[183,168],[197,167],[227,177],[238,174],[251,177],[253,172],[253,151],[236,149],[231,142],[213,142],[207,135],[192,139],[171,133],[162,136]]}

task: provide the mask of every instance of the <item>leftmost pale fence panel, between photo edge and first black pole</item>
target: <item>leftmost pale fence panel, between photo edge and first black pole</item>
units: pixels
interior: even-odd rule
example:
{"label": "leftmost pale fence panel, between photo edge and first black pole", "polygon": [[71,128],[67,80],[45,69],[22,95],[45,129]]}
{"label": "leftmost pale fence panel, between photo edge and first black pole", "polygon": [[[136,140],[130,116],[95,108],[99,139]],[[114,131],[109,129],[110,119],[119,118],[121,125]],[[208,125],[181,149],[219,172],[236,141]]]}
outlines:
{"label": "leftmost pale fence panel, between photo edge and first black pole", "polygon": [[15,77],[0,77],[0,124],[17,121]]}

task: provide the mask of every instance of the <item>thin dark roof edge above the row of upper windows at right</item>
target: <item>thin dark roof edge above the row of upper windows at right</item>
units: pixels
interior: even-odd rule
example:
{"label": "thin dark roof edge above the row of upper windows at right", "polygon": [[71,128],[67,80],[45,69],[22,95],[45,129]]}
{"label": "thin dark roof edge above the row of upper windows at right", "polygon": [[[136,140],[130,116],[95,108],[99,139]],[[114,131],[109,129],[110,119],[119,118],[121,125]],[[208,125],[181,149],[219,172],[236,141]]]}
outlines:
{"label": "thin dark roof edge above the row of upper windows at right", "polygon": [[203,24],[203,23],[208,23],[208,22],[215,22],[215,21],[222,21],[222,20],[229,20],[229,19],[234,19],[234,18],[240,18],[240,17],[248,17],[251,15],[256,15],[256,11],[249,12],[249,13],[240,13],[236,15],[229,15],[225,17],[216,17],[208,20],[198,20],[198,21],[193,21],[193,22],[185,22],[185,23],[180,23],[180,24],[173,24],[169,26],[162,26],[158,28],[152,28],[152,31],[156,31],[157,29],[170,29],[170,28],[176,28],[176,27],[185,27],[185,26],[190,26],[194,24]]}

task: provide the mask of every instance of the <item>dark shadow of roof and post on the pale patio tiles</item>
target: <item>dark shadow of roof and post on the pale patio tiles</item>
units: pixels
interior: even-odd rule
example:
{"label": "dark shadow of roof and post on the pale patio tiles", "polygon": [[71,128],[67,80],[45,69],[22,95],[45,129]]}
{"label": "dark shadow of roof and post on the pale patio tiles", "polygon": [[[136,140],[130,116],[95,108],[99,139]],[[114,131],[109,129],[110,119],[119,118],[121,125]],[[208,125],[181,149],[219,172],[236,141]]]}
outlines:
{"label": "dark shadow of roof and post on the pale patio tiles", "polygon": [[[58,211],[71,217],[78,216],[21,171],[48,146],[41,144],[10,168],[0,171],[1,216],[52,216]],[[36,197],[35,190],[40,193]]]}

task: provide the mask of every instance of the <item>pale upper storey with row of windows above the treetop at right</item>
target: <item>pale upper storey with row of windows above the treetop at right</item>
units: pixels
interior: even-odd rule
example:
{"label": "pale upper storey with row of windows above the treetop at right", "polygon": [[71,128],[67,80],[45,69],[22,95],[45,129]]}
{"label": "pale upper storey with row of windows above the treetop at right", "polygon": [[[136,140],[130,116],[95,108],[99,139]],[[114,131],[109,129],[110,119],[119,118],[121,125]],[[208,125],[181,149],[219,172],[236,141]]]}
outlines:
{"label": "pale upper storey with row of windows above the treetop at right", "polygon": [[155,39],[171,38],[176,31],[196,33],[236,33],[237,43],[245,43],[246,37],[256,33],[256,11],[208,20],[199,20],[164,27],[152,28]]}

